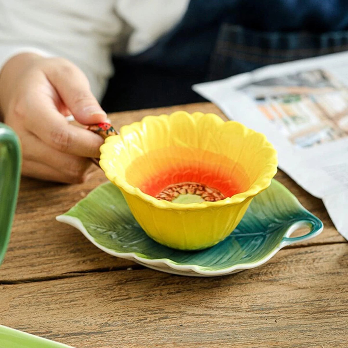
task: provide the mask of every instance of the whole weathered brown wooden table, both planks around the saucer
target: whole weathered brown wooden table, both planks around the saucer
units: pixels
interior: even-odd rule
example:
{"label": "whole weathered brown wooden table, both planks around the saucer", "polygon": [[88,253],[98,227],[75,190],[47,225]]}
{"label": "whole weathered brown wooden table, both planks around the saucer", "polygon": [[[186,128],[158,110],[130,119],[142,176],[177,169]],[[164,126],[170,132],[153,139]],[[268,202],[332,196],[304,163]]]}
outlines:
{"label": "whole weathered brown wooden table, both planks around the saucer", "polygon": [[[111,119],[120,127],[175,110],[224,117],[201,103]],[[0,324],[81,348],[348,347],[348,244],[320,199],[281,171],[276,179],[324,222],[323,233],[261,267],[193,278],[114,258],[55,221],[106,181],[102,171],[79,185],[23,178],[0,268]]]}

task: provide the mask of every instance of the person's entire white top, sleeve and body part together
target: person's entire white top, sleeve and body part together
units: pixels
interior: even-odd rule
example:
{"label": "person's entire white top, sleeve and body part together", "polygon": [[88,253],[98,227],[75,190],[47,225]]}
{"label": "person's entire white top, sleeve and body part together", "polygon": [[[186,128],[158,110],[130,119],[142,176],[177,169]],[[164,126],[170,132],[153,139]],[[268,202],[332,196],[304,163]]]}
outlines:
{"label": "person's entire white top, sleeve and body part together", "polygon": [[[0,0],[0,69],[15,54],[61,56],[87,76],[101,100],[111,56],[136,54],[180,20],[188,0]],[[129,33],[129,29],[131,34]]]}

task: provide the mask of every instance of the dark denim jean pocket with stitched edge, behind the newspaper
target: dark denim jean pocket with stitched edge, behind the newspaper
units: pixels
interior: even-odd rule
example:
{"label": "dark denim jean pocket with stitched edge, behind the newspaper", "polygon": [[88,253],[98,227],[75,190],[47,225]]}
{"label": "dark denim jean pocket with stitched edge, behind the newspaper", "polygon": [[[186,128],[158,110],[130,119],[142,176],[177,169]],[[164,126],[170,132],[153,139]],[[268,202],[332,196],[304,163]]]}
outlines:
{"label": "dark denim jean pocket with stitched edge, behind the newspaper", "polygon": [[348,31],[258,32],[224,23],[217,37],[208,80],[347,49]]}

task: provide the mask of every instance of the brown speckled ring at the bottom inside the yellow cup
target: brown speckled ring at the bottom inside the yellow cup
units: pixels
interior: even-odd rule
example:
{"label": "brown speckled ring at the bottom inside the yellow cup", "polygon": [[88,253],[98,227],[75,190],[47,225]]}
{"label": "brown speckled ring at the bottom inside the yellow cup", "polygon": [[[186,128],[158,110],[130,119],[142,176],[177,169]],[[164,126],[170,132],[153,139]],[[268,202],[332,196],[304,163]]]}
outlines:
{"label": "brown speckled ring at the bottom inside the yellow cup", "polygon": [[158,193],[156,198],[171,202],[180,195],[196,195],[208,202],[215,202],[226,198],[219,190],[197,182],[181,182],[168,185]]}

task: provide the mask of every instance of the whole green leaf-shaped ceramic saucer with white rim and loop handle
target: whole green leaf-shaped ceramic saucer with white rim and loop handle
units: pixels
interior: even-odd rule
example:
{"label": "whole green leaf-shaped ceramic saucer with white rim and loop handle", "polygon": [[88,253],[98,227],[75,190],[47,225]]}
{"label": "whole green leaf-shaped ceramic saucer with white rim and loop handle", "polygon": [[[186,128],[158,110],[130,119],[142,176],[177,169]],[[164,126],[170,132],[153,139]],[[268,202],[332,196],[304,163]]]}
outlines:
{"label": "whole green leaf-shaped ceramic saucer with white rim and loop handle", "polygon": [[[226,275],[257,267],[280,248],[315,237],[323,230],[322,222],[276,180],[253,199],[229,237],[202,251],[178,251],[149,238],[112,183],[97,187],[57,220],[78,228],[111,255],[160,271],[192,276]],[[303,226],[310,228],[306,235],[290,237]]]}

